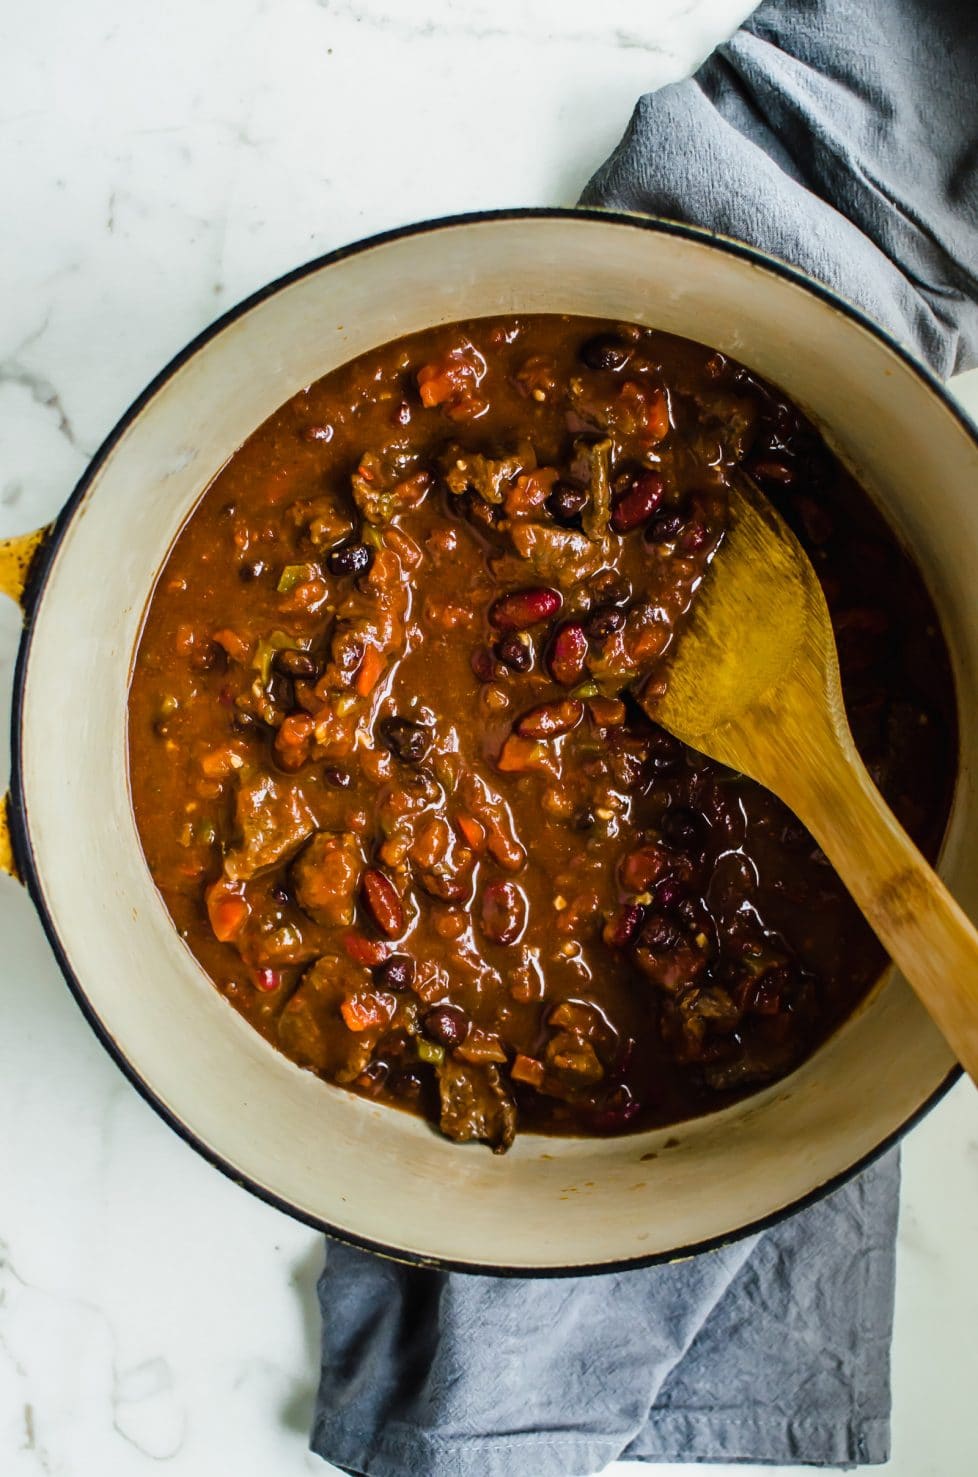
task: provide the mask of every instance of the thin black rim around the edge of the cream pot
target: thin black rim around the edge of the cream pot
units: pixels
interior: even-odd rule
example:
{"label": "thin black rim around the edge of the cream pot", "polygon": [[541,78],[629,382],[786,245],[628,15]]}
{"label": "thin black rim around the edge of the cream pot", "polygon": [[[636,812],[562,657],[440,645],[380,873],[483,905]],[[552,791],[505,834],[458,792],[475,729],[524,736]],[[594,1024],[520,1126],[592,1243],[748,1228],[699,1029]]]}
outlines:
{"label": "thin black rim around the edge of the cream pot", "polygon": [[259,1199],[264,1201],[266,1205],[272,1205],[275,1210],[284,1211],[293,1220],[298,1220],[313,1230],[322,1232],[334,1241],[344,1242],[346,1245],[356,1247],[360,1251],[369,1251],[377,1255],[386,1257],[387,1260],[434,1267],[443,1272],[462,1272],[480,1276],[501,1276],[501,1278],[520,1278],[520,1276],[544,1276],[544,1278],[569,1278],[569,1276],[587,1276],[600,1275],[607,1272],[629,1272],[638,1270],[640,1267],[660,1266],[672,1261],[684,1261],[688,1257],[700,1255],[706,1251],[715,1251],[719,1247],[730,1245],[731,1242],[740,1241],[745,1236],[759,1235],[761,1232],[770,1230],[780,1221],[786,1220],[789,1216],[795,1216],[810,1205],[815,1205],[826,1195],[833,1193],[841,1189],[848,1180],[861,1174],[866,1168],[876,1162],[883,1154],[892,1149],[906,1133],[909,1133],[917,1123],[920,1123],[926,1114],[937,1106],[937,1103],[950,1092],[959,1077],[963,1075],[962,1068],[954,1065],[947,1077],[938,1084],[938,1087],[931,1093],[931,1096],[913,1112],[904,1123],[888,1134],[880,1143],[878,1143],[869,1154],[863,1155],[855,1164],[842,1170],[839,1174],[832,1176],[821,1185],[817,1185],[807,1195],[799,1196],[789,1205],[773,1211],[770,1216],[764,1216],[759,1220],[750,1221],[746,1226],[740,1226],[733,1232],[727,1232],[719,1236],[708,1238],[706,1241],[693,1242],[687,1247],[677,1247],[671,1251],[652,1252],[638,1257],[623,1257],[615,1261],[598,1261],[598,1263],[578,1263],[572,1266],[553,1266],[553,1267],[533,1267],[527,1270],[524,1267],[514,1267],[507,1264],[488,1264],[488,1263],[473,1263],[459,1261],[448,1257],[430,1257],[421,1252],[411,1252],[405,1250],[394,1250],[383,1242],[372,1241],[366,1236],[358,1236],[347,1230],[340,1230],[329,1221],[322,1220],[318,1216],[312,1216],[309,1211],[301,1210],[291,1201],[281,1195],[269,1190],[259,1180],[242,1174],[235,1165],[226,1159],[222,1154],[213,1149],[210,1145],[204,1143],[202,1139],[196,1136],[194,1128],[186,1124],[182,1118],[176,1115],[149,1087],[149,1084],[140,1077],[134,1062],[126,1056],[123,1049],[118,1046],[112,1037],[109,1028],[96,1015],[95,1007],[89,1001],[84,985],[74,972],[71,960],[65,948],[62,947],[61,938],[53,917],[50,916],[47,905],[44,902],[40,868],[37,858],[34,855],[34,846],[31,842],[27,801],[24,795],[24,771],[22,771],[22,718],[24,718],[24,694],[27,688],[27,669],[31,650],[31,640],[34,631],[34,616],[40,603],[44,597],[49,575],[55,561],[55,555],[61,546],[61,542],[71,524],[75,513],[81,507],[89,487],[98,477],[103,464],[108,461],[114,452],[117,443],[126,434],[126,431],[133,425],[133,422],[143,412],[146,405],[154,399],[154,396],[173,378],[173,375],[188,363],[195,353],[202,349],[210,340],[216,338],[225,328],[230,326],[239,318],[244,318],[253,307],[273,297],[282,288],[291,287],[291,284],[301,281],[306,276],[312,276],[324,267],[332,266],[337,261],[343,261],[347,257],[360,254],[374,247],[386,245],[393,241],[399,241],[408,236],[425,235],[434,230],[445,230],[458,226],[468,225],[483,225],[490,222],[504,220],[592,220],[606,225],[632,226],[640,230],[653,230],[662,235],[678,236],[685,241],[694,241],[700,245],[711,245],[718,251],[728,256],[739,257],[753,266],[762,267],[776,276],[784,278],[798,287],[802,287],[810,294],[818,297],[829,309],[839,313],[844,318],[851,319],[858,326],[864,328],[875,338],[880,340],[891,353],[895,353],[916,375],[923,385],[935,394],[944,405],[945,409],[959,421],[965,433],[978,445],[978,427],[971,419],[968,412],[948,394],[944,383],[919,360],[910,350],[901,344],[891,332],[876,323],[869,318],[861,309],[848,303],[844,297],[835,292],[832,288],[826,287],[823,282],[807,276],[798,267],[790,266],[780,257],[770,256],[758,250],[756,247],[748,245],[743,241],[736,241],[731,236],[724,236],[718,232],[708,230],[702,226],[690,226],[684,222],[668,220],[660,216],[644,216],[638,213],[615,211],[615,210],[598,210],[594,207],[513,207],[513,208],[498,208],[498,210],[483,210],[483,211],[467,211],[456,216],[440,216],[433,220],[421,220],[406,226],[396,226],[390,230],[383,230],[371,236],[363,236],[349,245],[337,247],[332,251],[326,251],[319,257],[313,257],[310,261],[294,267],[291,272],[275,278],[264,287],[257,288],[248,297],[242,298],[233,307],[228,309],[219,318],[216,318],[207,328],[196,334],[179,353],[176,353],[168,363],[149,381],[149,384],[136,396],[136,399],[123,412],[117,424],[108,433],[95,456],[86,467],[84,473],[75,483],[68,501],[62,507],[61,513],[55,518],[49,536],[40,546],[28,578],[28,583],[24,589],[22,604],[24,604],[24,631],[21,634],[21,642],[16,656],[16,665],[13,672],[13,697],[10,709],[10,790],[7,798],[7,818],[10,827],[10,840],[13,846],[13,855],[16,866],[28,891],[28,895],[34,904],[34,908],[40,917],[44,935],[52,947],[58,966],[64,975],[65,984],[68,985],[74,1000],[90,1025],[92,1031],[109,1053],[115,1065],[123,1071],[130,1084],[136,1089],[140,1097],[149,1103],[149,1106],[163,1118],[163,1121],[173,1128],[174,1133],[183,1139],[192,1149],[195,1149],[208,1164],[220,1170],[229,1180],[241,1188],[250,1190]]}

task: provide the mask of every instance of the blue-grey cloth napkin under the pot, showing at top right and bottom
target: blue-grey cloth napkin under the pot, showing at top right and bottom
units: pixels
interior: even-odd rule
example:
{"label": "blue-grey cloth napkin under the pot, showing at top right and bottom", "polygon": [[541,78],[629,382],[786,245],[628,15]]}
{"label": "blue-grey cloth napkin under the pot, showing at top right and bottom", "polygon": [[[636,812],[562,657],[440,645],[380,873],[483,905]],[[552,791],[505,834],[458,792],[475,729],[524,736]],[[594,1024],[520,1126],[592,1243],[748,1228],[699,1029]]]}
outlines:
{"label": "blue-grey cloth napkin under the pot, showing at top right and bottom", "polygon": [[[584,201],[764,247],[950,374],[978,347],[975,77],[962,0],[774,0],[641,99]],[[898,1182],[889,1154],[758,1238],[595,1278],[329,1242],[313,1450],[368,1477],[882,1462]]]}

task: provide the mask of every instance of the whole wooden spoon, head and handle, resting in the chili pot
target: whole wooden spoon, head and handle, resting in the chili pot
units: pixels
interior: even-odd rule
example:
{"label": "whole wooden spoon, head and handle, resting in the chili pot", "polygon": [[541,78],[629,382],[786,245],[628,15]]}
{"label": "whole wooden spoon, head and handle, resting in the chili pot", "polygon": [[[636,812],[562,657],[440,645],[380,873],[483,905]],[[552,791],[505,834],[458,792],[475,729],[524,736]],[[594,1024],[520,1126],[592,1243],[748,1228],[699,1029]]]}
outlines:
{"label": "whole wooden spoon, head and handle, resting in the chili pot", "polygon": [[805,551],[748,477],[647,712],[773,790],[808,827],[978,1083],[978,932],[860,759],[829,609]]}

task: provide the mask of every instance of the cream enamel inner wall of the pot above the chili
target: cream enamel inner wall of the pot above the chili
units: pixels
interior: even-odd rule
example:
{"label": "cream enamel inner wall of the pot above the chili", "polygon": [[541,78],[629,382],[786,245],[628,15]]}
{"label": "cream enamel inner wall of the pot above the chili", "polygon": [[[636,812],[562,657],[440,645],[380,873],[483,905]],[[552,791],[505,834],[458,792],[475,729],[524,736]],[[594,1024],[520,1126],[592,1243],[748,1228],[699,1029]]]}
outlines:
{"label": "cream enamel inner wall of the pot above the chili", "polygon": [[425,325],[511,312],[594,313],[703,340],[830,433],[913,548],[953,640],[963,768],[943,871],[974,916],[978,445],[835,306],[708,239],[625,219],[488,219],[380,242],[281,288],[196,350],[114,448],[58,551],[30,650],[22,765],[40,886],[74,975],[198,1140],[341,1233],[535,1270],[683,1250],[771,1216],[900,1128],[951,1059],[891,976],[799,1072],[740,1106],[668,1133],[524,1136],[499,1158],[294,1068],[177,938],[126,780],[127,674],[165,549],[222,462],[301,385]]}

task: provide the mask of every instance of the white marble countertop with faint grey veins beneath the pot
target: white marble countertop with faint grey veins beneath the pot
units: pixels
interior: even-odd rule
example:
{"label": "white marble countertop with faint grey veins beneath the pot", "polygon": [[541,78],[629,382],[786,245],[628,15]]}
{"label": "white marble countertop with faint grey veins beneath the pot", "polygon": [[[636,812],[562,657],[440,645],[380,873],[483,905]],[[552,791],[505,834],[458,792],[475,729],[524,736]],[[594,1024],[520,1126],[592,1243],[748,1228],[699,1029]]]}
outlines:
{"label": "white marble countertop with faint grey veins beneath the pot", "polygon": [[[572,202],[634,97],[748,9],[6,6],[0,536],[52,517],[126,405],[217,312],[371,230]],[[0,610],[0,774],[16,635]],[[304,1450],[319,1238],[225,1182],[136,1097],[4,879],[0,945],[0,1473],[325,1473]],[[969,1087],[912,1136],[904,1162],[886,1471],[965,1477],[978,1326]]]}

